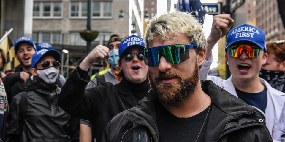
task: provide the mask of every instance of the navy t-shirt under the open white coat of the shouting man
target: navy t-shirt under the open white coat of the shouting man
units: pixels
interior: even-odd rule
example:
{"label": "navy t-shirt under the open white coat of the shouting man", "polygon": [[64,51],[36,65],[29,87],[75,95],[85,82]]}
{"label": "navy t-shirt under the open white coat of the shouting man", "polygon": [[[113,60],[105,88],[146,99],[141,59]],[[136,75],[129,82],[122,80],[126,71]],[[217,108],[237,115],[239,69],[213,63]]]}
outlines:
{"label": "navy t-shirt under the open white coat of the shouting man", "polygon": [[265,120],[265,109],[267,106],[267,89],[264,86],[263,91],[259,93],[247,93],[235,88],[238,98],[246,102],[246,104],[257,109],[260,116]]}

